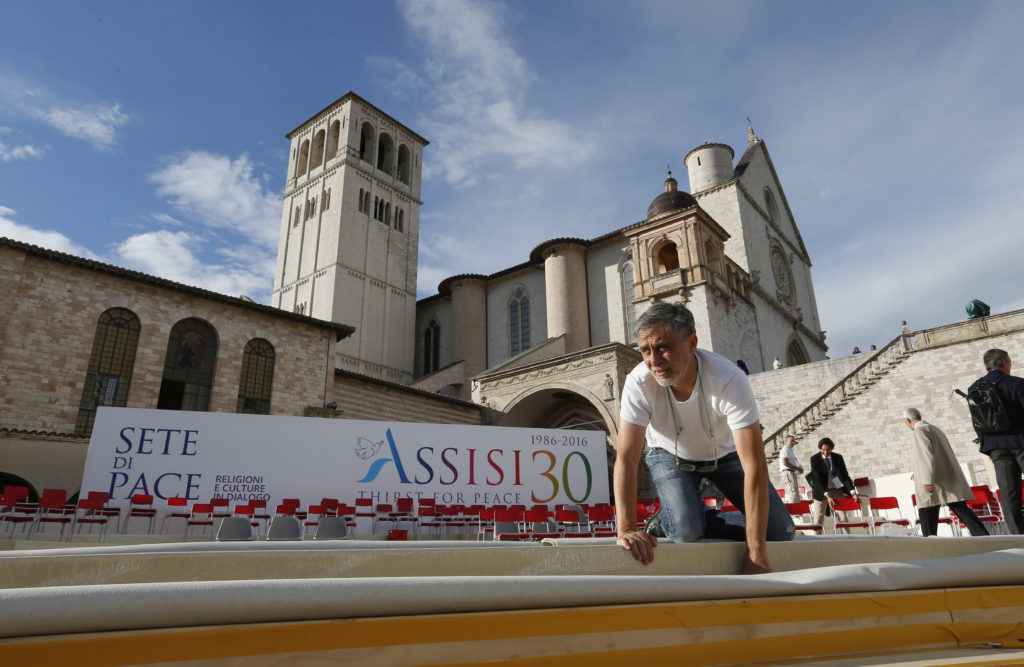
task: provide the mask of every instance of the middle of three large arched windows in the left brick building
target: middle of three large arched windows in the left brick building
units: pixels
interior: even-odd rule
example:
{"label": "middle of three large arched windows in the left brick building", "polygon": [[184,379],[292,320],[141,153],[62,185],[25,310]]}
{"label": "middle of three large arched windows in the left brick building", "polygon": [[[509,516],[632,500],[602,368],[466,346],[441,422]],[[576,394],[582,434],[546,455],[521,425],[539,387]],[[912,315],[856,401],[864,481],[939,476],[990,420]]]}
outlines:
{"label": "middle of three large arched windows in the left brick building", "polygon": [[213,370],[217,362],[217,334],[202,320],[182,320],[171,329],[160,383],[160,410],[210,409]]}

